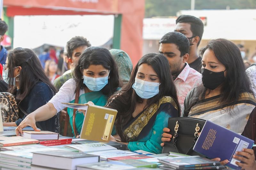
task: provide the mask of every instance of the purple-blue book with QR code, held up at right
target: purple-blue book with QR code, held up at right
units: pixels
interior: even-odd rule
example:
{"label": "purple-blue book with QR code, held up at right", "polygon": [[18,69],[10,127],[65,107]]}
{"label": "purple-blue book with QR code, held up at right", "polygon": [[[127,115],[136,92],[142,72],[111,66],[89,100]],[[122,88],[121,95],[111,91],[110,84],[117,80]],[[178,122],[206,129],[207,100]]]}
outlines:
{"label": "purple-blue book with QR code, held up at right", "polygon": [[247,137],[223,128],[211,121],[206,121],[193,150],[210,159],[228,159],[229,163],[226,166],[241,169],[235,163],[240,161],[234,159],[233,155],[237,151],[242,151],[243,148],[252,148],[253,143],[254,141]]}

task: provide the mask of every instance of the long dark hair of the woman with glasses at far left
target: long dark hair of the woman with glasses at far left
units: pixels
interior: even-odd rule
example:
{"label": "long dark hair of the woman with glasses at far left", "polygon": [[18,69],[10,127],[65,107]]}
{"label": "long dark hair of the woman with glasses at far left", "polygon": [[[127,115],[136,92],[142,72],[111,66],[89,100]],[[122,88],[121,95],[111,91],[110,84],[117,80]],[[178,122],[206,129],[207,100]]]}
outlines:
{"label": "long dark hair of the woman with glasses at far left", "polygon": [[44,82],[47,84],[54,93],[57,92],[55,87],[50,82],[49,78],[46,77],[44,69],[36,56],[36,54],[28,48],[14,48],[7,55],[8,57],[8,77],[9,81],[9,92],[15,93],[16,87],[12,87],[14,68],[20,66],[20,94],[16,95],[18,101],[22,101],[31,89],[38,82]]}

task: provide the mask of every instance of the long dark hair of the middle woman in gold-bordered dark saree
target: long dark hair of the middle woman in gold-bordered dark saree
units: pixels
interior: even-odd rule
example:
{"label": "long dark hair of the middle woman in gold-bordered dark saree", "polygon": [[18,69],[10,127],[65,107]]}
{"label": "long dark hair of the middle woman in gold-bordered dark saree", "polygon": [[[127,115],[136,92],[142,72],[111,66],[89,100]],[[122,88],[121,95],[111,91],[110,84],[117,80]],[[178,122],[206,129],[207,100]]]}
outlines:
{"label": "long dark hair of the middle woman in gold-bordered dark saree", "polygon": [[142,99],[133,90],[132,85],[135,82],[136,74],[139,66],[146,63],[156,71],[161,84],[159,85],[159,93],[148,100],[148,105],[158,102],[164,96],[171,96],[177,103],[178,112],[180,113],[180,106],[178,103],[177,92],[172,80],[170,66],[166,57],[162,54],[149,53],[144,55],[132,71],[130,81],[124,85],[121,91],[116,92],[108,99],[107,107],[114,108],[118,111],[115,126],[117,134],[122,141],[126,141],[122,129],[131,120],[132,113],[135,110],[136,102],[142,102]]}

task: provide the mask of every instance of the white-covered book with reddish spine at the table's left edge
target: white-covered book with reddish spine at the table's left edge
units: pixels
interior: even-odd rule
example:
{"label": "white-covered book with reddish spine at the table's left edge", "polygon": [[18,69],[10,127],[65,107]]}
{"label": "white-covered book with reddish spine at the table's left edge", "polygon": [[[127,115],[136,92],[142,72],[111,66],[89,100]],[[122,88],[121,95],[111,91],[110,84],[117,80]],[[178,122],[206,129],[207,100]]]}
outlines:
{"label": "white-covered book with reddish spine at the table's left edge", "polygon": [[36,139],[27,139],[20,136],[15,137],[0,137],[0,146],[15,146],[23,144],[37,144],[39,141]]}

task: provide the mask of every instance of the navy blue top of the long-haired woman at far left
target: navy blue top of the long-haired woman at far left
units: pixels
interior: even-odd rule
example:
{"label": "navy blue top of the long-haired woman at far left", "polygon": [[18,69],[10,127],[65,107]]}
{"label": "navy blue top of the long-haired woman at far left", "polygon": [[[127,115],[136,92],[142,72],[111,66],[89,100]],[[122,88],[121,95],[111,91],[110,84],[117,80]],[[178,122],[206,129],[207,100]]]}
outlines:
{"label": "navy blue top of the long-haired woman at far left", "polygon": [[[17,92],[19,93],[19,91]],[[16,94],[17,95],[17,94]],[[54,93],[50,87],[43,83],[38,82],[28,93],[28,95],[20,102],[19,107],[26,111],[28,114],[34,112],[37,108],[45,105],[50,99],[52,99]],[[15,123],[19,126],[20,122],[26,117],[25,114],[19,108],[20,115],[24,115],[23,118],[18,119]],[[46,113],[45,113],[46,114]],[[48,130],[52,132],[59,133],[60,122],[59,113],[53,116],[51,119],[46,121],[38,122],[41,130]]]}

